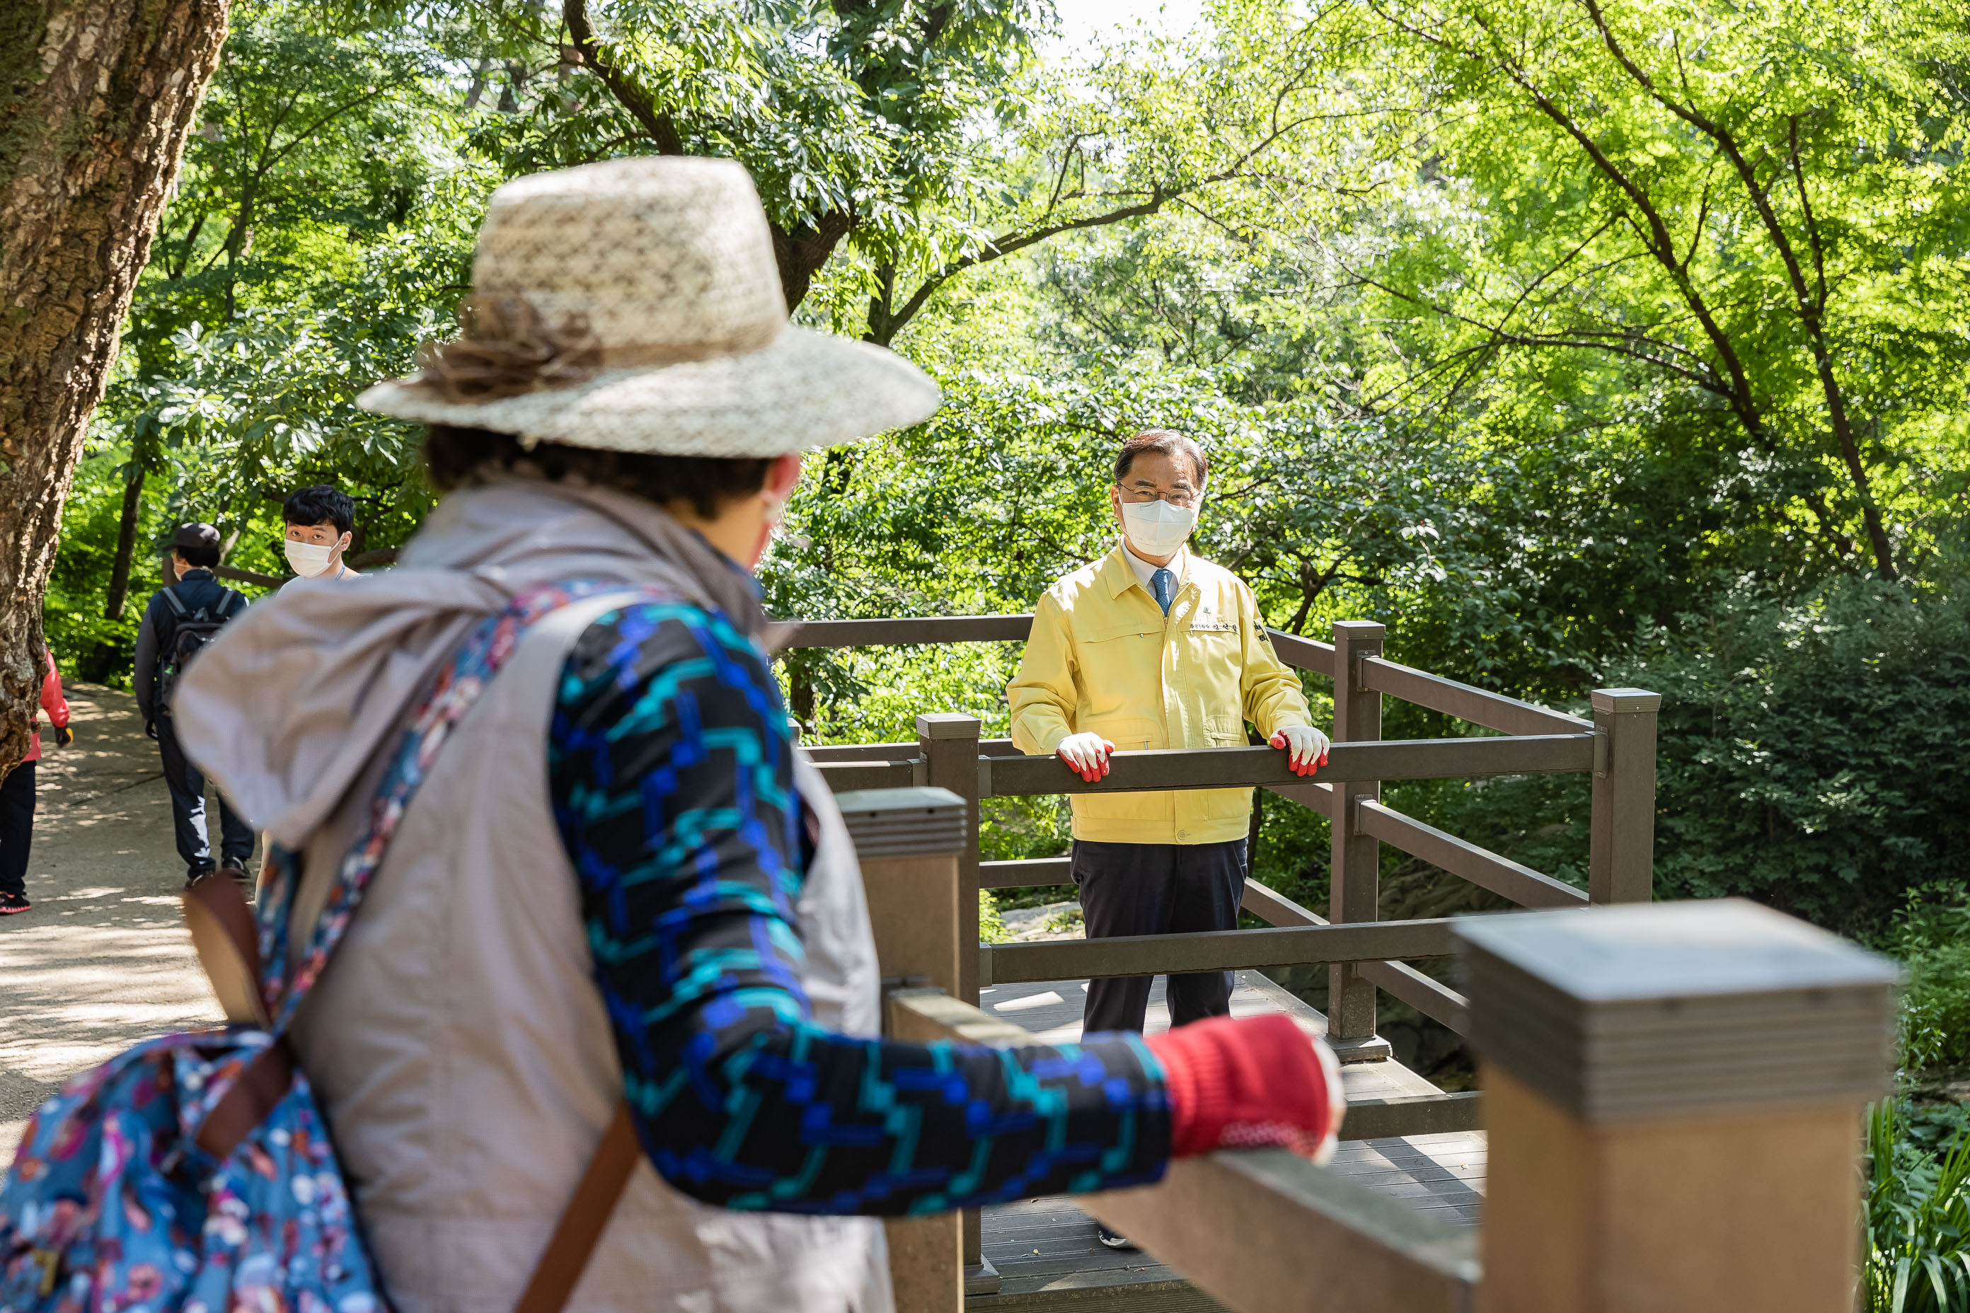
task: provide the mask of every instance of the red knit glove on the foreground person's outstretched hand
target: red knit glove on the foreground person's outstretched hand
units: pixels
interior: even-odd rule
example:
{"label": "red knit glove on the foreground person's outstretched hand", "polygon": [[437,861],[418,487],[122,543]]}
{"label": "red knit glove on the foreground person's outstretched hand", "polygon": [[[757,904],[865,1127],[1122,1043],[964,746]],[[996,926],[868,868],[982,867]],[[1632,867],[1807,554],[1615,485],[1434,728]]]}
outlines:
{"label": "red knit glove on the foreground person's outstretched hand", "polygon": [[1170,1157],[1284,1148],[1334,1156],[1347,1112],[1342,1065],[1320,1039],[1275,1012],[1192,1022],[1149,1037],[1170,1091]]}

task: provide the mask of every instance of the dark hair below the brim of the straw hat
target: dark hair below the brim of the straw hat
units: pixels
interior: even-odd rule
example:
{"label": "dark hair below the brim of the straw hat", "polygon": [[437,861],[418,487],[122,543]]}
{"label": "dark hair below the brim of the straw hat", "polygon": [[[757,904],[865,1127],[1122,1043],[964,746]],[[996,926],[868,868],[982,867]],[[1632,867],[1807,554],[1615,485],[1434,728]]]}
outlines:
{"label": "dark hair below the brim of the straw hat", "polygon": [[429,425],[424,437],[424,465],[439,492],[451,492],[481,472],[510,470],[522,461],[548,478],[579,474],[646,502],[690,502],[691,510],[713,520],[723,502],[766,486],[774,457],[664,457],[561,443],[536,443],[528,451],[512,433],[445,423]]}

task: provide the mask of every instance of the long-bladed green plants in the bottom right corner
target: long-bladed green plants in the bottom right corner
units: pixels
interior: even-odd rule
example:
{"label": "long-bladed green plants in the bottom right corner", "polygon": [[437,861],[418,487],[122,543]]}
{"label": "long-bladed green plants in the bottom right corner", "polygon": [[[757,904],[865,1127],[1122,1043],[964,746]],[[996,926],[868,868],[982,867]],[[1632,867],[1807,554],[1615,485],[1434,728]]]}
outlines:
{"label": "long-bladed green plants in the bottom right corner", "polygon": [[1937,1150],[1909,1134],[1909,1110],[1868,1114],[1870,1313],[1958,1313],[1970,1307],[1970,1134]]}

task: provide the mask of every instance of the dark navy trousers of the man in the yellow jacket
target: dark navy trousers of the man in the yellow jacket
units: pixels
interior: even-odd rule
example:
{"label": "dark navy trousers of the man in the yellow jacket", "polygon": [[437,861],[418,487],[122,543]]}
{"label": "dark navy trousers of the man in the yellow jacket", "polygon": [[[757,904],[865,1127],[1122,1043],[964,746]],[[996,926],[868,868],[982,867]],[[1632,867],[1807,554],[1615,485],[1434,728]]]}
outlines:
{"label": "dark navy trousers of the man in the yellow jacket", "polygon": [[[1089,939],[1237,929],[1245,898],[1245,841],[1087,843],[1074,841],[1074,884]],[[1082,1030],[1143,1030],[1154,976],[1087,982]],[[1170,1026],[1231,1012],[1231,972],[1170,976]]]}

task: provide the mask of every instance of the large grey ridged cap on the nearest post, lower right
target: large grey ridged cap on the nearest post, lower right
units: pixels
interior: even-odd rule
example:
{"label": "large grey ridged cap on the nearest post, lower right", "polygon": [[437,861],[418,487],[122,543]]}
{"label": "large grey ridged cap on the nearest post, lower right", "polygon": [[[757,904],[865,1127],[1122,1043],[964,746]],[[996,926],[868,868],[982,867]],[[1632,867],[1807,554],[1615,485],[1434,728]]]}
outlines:
{"label": "large grey ridged cap on the nearest post, lower right", "polygon": [[1864,1102],[1899,969],[1743,900],[1462,917],[1476,1049],[1588,1124]]}

